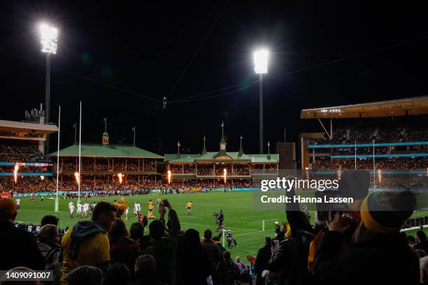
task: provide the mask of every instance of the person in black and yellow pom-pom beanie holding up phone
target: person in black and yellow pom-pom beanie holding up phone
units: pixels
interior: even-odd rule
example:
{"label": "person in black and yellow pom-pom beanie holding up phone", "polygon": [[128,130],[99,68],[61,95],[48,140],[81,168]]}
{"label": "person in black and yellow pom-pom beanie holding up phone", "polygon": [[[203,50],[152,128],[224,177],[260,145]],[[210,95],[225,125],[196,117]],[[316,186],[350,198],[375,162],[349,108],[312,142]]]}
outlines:
{"label": "person in black and yellow pom-pom beanie holding up phone", "polygon": [[331,217],[315,256],[315,281],[322,284],[419,284],[419,260],[401,226],[416,200],[411,191],[376,192],[361,205],[361,223],[352,243],[341,252],[349,225],[341,214]]}

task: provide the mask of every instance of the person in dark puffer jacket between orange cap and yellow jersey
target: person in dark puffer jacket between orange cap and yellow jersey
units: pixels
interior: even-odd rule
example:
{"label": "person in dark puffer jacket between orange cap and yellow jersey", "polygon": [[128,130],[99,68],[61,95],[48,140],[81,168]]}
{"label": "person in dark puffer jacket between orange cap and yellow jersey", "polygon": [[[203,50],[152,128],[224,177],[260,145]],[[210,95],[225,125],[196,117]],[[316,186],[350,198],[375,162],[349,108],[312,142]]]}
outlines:
{"label": "person in dark puffer jacket between orange cap and yellow jersey", "polygon": [[55,225],[47,224],[38,231],[38,249],[45,258],[45,270],[52,270],[55,284],[61,278],[61,246],[59,242],[58,228]]}

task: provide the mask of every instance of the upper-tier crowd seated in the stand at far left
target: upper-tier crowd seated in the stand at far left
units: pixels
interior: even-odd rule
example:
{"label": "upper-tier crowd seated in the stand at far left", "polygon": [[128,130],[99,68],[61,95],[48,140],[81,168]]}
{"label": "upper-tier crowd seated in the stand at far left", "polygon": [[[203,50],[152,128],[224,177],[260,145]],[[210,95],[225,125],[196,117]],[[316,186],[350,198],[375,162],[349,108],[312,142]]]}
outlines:
{"label": "upper-tier crowd seated in the stand at far left", "polygon": [[38,142],[27,140],[0,140],[0,161],[3,162],[29,162],[40,157]]}

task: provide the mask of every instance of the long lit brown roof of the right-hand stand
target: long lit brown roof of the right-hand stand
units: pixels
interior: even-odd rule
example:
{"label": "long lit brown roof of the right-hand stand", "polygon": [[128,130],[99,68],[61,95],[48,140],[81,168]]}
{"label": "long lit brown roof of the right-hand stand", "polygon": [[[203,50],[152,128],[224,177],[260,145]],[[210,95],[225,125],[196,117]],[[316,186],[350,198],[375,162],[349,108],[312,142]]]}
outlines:
{"label": "long lit brown roof of the right-hand stand", "polygon": [[428,114],[428,96],[301,110],[301,119],[396,117]]}

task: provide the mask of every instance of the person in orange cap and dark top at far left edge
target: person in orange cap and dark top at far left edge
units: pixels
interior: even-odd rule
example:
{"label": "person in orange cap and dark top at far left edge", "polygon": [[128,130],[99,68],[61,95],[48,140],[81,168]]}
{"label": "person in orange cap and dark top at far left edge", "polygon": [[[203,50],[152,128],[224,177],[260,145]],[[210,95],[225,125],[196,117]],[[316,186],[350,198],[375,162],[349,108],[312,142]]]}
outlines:
{"label": "person in orange cap and dark top at far left edge", "polygon": [[19,266],[44,270],[45,261],[38,251],[34,235],[13,225],[16,215],[15,201],[0,199],[0,270]]}

